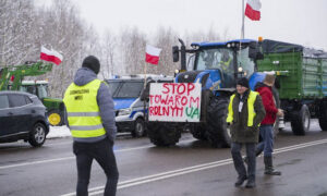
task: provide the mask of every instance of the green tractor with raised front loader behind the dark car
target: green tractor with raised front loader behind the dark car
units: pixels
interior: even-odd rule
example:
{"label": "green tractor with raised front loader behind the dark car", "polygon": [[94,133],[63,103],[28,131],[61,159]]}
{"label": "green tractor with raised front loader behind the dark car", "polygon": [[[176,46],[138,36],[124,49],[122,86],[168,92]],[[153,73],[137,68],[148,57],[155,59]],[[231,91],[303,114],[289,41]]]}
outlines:
{"label": "green tractor with raised front loader behind the dark car", "polygon": [[0,70],[0,90],[21,90],[36,95],[47,107],[50,125],[64,124],[62,99],[50,98],[47,81],[23,81],[24,76],[37,76],[52,71],[52,64],[26,62],[23,65],[4,66]]}

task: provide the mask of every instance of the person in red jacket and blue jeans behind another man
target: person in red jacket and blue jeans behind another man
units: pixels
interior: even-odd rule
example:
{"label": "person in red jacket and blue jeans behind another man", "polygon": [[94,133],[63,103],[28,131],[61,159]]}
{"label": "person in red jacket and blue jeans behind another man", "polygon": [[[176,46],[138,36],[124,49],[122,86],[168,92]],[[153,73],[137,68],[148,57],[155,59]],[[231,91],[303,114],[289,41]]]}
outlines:
{"label": "person in red jacket and blue jeans behind another man", "polygon": [[280,171],[276,171],[272,167],[274,151],[274,123],[276,117],[283,117],[283,111],[276,108],[276,101],[272,96],[272,86],[275,76],[267,74],[264,83],[257,83],[256,91],[259,93],[266,110],[266,117],[261,124],[262,142],[256,146],[256,156],[264,151],[265,174],[281,175]]}

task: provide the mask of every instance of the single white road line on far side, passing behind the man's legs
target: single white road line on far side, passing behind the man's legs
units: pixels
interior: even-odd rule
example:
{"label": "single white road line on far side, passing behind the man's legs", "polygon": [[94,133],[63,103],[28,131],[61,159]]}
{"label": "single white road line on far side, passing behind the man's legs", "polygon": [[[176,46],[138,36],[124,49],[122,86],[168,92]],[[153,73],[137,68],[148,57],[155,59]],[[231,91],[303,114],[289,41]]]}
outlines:
{"label": "single white road line on far side, passing behind the man's legs", "polygon": [[[193,139],[181,140],[180,144],[189,143],[189,142],[193,142],[193,140],[196,140],[196,139],[193,138]],[[140,150],[140,149],[145,149],[145,148],[150,148],[150,147],[155,147],[155,145],[146,145],[146,146],[140,146],[140,147],[135,147],[135,148],[118,149],[118,150],[113,150],[113,151],[114,152],[126,152],[126,151]],[[47,162],[64,161],[64,160],[71,160],[71,159],[75,159],[75,156],[64,157],[64,158],[57,158],[57,159],[46,159],[46,160],[39,160],[39,161],[23,162],[23,163],[17,163],[17,164],[0,166],[0,170],[9,169],[9,168],[24,167],[24,166],[32,166],[32,164],[41,164],[41,163],[47,163]]]}

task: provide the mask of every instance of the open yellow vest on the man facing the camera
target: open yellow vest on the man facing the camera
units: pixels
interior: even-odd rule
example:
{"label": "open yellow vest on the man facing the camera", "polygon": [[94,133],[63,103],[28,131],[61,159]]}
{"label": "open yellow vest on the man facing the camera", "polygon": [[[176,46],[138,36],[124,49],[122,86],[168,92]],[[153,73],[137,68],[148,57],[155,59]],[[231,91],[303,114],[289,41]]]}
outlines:
{"label": "open yellow vest on the man facing the camera", "polygon": [[[249,117],[247,117],[247,126],[253,126],[253,120],[256,115],[254,111],[254,101],[256,100],[256,96],[259,94],[257,91],[252,91],[250,90],[249,98],[247,98],[247,111],[249,111]],[[229,106],[228,106],[228,115],[227,115],[227,122],[231,123],[233,122],[233,100],[234,100],[235,94],[230,97]]]}

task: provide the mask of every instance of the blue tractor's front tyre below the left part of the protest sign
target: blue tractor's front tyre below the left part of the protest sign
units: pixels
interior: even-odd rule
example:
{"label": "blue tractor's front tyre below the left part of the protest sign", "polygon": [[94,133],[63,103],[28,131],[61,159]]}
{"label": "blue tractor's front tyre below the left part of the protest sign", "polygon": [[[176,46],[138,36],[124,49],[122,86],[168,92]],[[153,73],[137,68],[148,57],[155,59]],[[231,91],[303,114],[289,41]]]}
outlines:
{"label": "blue tractor's front tyre below the left part of the protest sign", "polygon": [[152,122],[147,126],[147,135],[156,146],[172,146],[181,138],[181,131],[171,123]]}

